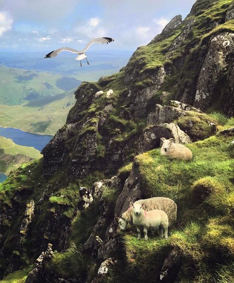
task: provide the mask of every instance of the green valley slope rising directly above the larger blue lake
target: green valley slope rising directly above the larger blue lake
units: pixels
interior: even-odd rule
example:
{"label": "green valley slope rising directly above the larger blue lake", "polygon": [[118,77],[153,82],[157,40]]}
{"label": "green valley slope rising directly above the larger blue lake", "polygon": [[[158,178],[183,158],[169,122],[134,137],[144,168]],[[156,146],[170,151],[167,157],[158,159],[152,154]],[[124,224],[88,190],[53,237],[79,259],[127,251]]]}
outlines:
{"label": "green valley slope rising directly above the larger blue lake", "polygon": [[64,125],[70,108],[75,104],[74,91],[22,105],[2,105],[0,126],[53,135]]}

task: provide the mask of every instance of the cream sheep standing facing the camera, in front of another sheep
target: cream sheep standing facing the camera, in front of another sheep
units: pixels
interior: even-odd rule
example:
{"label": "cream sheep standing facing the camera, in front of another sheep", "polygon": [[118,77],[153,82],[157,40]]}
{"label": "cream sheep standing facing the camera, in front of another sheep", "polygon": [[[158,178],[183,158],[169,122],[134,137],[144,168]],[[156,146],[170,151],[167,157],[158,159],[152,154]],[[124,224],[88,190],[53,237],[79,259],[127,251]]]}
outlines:
{"label": "cream sheep standing facing the camera, in front of another sheep", "polygon": [[157,230],[159,227],[159,236],[162,239],[163,235],[165,239],[168,237],[168,217],[166,212],[161,210],[144,211],[143,204],[133,204],[132,206],[132,219],[133,224],[137,227],[137,239],[141,238],[141,227],[143,227],[145,240],[148,241],[147,232],[149,229]]}

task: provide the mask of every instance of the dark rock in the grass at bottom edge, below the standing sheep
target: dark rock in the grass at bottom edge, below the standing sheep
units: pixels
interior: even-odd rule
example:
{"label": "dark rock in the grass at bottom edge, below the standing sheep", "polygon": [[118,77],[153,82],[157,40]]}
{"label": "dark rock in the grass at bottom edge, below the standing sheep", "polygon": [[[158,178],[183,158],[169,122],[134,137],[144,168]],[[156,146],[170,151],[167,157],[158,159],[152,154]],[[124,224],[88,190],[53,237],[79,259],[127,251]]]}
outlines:
{"label": "dark rock in the grass at bottom edge, below the standing sheep", "polygon": [[182,251],[179,248],[173,248],[169,252],[167,258],[163,262],[163,266],[159,276],[160,282],[175,282],[181,267],[181,254]]}

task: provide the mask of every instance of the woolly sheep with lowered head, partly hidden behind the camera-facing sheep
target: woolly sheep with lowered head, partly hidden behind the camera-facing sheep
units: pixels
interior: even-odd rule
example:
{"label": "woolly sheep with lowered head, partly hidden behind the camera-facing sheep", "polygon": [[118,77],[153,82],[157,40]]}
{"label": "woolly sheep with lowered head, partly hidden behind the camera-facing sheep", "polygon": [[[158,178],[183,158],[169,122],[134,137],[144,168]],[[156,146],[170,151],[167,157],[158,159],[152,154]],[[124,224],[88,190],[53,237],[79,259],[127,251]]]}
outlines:
{"label": "woolly sheep with lowered head, partly hidden behind the camera-facing sheep", "polygon": [[[145,211],[162,210],[166,212],[168,215],[169,227],[171,227],[173,222],[176,220],[177,205],[173,200],[164,197],[154,197],[145,200],[138,200],[134,204],[143,203],[144,205],[142,208]],[[123,212],[122,215],[120,215],[120,218],[118,218],[118,224],[121,230],[125,230],[128,223],[133,224],[132,206],[130,206],[128,210]]]}

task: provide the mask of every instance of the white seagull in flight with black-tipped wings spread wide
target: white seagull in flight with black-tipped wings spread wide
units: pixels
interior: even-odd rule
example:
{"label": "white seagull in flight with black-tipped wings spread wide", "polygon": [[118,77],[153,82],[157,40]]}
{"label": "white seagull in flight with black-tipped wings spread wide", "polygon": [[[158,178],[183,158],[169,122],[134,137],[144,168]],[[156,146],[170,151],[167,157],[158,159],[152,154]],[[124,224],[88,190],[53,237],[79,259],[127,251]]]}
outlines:
{"label": "white seagull in flight with black-tipped wings spread wide", "polygon": [[114,41],[114,39],[111,38],[111,37],[98,37],[98,38],[94,38],[94,39],[91,39],[87,43],[87,45],[84,47],[84,49],[81,50],[81,51],[78,51],[78,50],[70,48],[70,47],[61,47],[59,49],[56,49],[56,50],[53,50],[53,51],[49,52],[48,54],[45,55],[44,58],[52,58],[52,57],[57,56],[62,51],[69,51],[69,52],[78,54],[77,58],[75,58],[75,59],[80,62],[80,67],[82,67],[81,60],[83,60],[83,59],[86,59],[87,64],[89,65],[85,52],[88,50],[88,48],[92,44],[94,44],[94,43],[102,43],[102,44],[106,44],[107,43],[108,44],[111,41]]}

